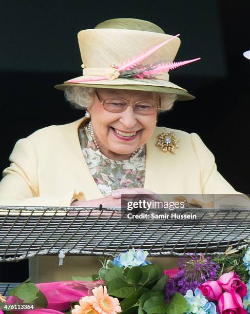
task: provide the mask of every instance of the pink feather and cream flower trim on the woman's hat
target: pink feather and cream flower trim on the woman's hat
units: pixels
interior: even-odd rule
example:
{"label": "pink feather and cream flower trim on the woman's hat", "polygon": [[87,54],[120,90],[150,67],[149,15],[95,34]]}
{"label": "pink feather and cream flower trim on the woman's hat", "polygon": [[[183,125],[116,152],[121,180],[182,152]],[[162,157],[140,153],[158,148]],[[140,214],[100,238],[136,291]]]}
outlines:
{"label": "pink feather and cream flower trim on the woman's hat", "polygon": [[[123,62],[120,66],[113,66],[111,65],[107,69],[103,69],[103,75],[92,77],[92,78],[73,78],[73,80],[67,81],[67,83],[83,83],[83,82],[93,82],[93,81],[102,81],[102,80],[116,80],[118,77],[124,78],[133,78],[133,79],[141,79],[144,80],[146,78],[156,78],[156,75],[160,75],[163,73],[167,73],[169,70],[176,69],[183,65],[186,65],[191,62],[195,62],[200,60],[200,58],[195,58],[192,60],[181,61],[181,62],[171,62],[171,63],[164,63],[160,61],[155,64],[148,64],[142,66],[141,63],[149,57],[152,53],[160,49],[162,46],[166,45],[170,41],[174,40],[180,34],[172,36],[168,40],[153,46],[152,48],[136,55],[129,60]],[[94,69],[96,70],[96,69]],[[100,69],[101,70],[101,69]]]}

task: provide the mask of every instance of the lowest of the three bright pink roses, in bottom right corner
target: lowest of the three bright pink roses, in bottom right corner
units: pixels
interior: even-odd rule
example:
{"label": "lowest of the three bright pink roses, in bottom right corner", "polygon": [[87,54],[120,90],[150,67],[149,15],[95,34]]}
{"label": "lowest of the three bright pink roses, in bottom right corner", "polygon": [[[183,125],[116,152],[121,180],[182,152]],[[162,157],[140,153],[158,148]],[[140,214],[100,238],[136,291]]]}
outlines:
{"label": "lowest of the three bright pink roses, in bottom right corner", "polygon": [[224,292],[217,304],[219,314],[247,314],[238,293]]}

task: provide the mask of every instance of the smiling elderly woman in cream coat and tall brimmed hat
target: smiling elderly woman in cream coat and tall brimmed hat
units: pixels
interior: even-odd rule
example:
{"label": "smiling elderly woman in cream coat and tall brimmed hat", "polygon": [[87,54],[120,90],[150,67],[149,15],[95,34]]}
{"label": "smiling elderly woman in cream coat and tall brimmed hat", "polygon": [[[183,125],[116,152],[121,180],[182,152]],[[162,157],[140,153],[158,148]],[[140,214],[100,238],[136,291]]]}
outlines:
{"label": "smiling elderly woman in cream coat and tall brimmed hat", "polygon": [[[85,117],[16,143],[0,183],[2,205],[111,207],[121,205],[122,193],[237,193],[197,134],[156,127],[160,111],[175,100],[194,99],[169,82],[178,36],[150,22],[113,19],[78,38],[83,76],[55,87],[86,109]],[[78,257],[60,267],[56,257],[30,264],[33,281],[66,280],[99,268],[95,258]]]}

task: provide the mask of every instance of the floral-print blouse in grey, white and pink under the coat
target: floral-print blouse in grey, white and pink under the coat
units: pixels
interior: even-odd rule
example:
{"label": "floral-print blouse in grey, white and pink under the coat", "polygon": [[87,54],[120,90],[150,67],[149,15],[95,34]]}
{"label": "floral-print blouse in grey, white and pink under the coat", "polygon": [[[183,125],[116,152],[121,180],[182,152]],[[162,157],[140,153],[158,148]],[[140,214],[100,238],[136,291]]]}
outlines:
{"label": "floral-print blouse in grey, white and pink under the coat", "polygon": [[143,187],[145,180],[145,146],[130,159],[108,159],[94,145],[87,126],[78,129],[85,161],[98,188],[105,196],[121,188]]}

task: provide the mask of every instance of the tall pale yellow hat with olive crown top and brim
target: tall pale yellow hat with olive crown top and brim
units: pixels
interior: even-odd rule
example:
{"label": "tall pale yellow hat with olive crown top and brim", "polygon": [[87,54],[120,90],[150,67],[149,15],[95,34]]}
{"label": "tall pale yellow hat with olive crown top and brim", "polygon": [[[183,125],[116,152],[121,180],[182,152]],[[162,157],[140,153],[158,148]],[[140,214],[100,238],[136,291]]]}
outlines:
{"label": "tall pale yellow hat with olive crown top and brim", "polygon": [[[123,75],[118,69],[129,61],[136,62],[145,52],[148,56],[138,62],[145,69],[152,65],[170,64],[180,47],[180,39],[167,35],[157,25],[134,18],[109,19],[94,29],[78,33],[83,75],[55,85],[65,90],[69,86],[155,91],[177,94],[178,100],[191,100],[195,96],[169,82],[168,71],[143,78],[132,76],[127,68]],[[151,53],[152,49],[155,49]],[[156,67],[156,66],[155,66]],[[152,66],[153,69],[153,66]],[[130,73],[127,76],[126,73]],[[130,75],[130,76],[129,76]],[[140,76],[140,75],[139,75]]]}

